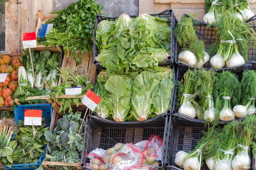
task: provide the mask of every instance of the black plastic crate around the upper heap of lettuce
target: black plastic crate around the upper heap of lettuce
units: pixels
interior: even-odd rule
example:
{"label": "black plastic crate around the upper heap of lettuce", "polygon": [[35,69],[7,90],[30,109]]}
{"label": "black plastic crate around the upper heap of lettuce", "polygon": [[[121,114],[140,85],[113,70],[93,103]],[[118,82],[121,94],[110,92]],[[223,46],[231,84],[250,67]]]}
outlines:
{"label": "black plastic crate around the upper heap of lettuce", "polygon": [[[170,37],[170,42],[171,42],[171,46],[170,46],[170,56],[168,57],[167,61],[165,61],[164,63],[159,63],[159,66],[160,65],[170,65],[170,64],[174,64],[174,59],[175,59],[175,56],[177,55],[177,41],[176,41],[176,38],[173,34],[174,32],[174,29],[177,25],[177,19],[174,15],[174,12],[173,10],[171,9],[166,9],[164,10],[163,12],[160,12],[158,14],[149,14],[151,16],[154,16],[154,17],[167,17],[169,18],[169,22],[171,24],[171,37]],[[130,17],[138,17],[138,15],[133,15],[133,16],[130,16]],[[118,17],[107,17],[107,16],[104,16],[104,15],[98,15],[96,16],[96,22],[95,22],[95,28],[93,30],[93,62],[94,64],[98,67],[100,66],[100,64],[95,60],[95,57],[98,56],[98,47],[96,46],[95,44],[95,37],[96,37],[96,30],[98,28],[98,23],[102,20],[116,20]]]}

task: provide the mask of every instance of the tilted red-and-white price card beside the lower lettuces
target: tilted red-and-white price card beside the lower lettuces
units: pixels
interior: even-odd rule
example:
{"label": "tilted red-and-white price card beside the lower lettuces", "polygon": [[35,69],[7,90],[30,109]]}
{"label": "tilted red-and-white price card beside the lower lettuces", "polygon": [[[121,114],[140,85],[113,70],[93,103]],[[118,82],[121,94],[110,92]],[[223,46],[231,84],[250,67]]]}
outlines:
{"label": "tilted red-and-white price card beside the lower lettuces", "polygon": [[94,111],[97,107],[98,103],[100,102],[101,98],[95,94],[93,91],[88,89],[85,95],[82,98],[82,103],[86,105],[90,110]]}

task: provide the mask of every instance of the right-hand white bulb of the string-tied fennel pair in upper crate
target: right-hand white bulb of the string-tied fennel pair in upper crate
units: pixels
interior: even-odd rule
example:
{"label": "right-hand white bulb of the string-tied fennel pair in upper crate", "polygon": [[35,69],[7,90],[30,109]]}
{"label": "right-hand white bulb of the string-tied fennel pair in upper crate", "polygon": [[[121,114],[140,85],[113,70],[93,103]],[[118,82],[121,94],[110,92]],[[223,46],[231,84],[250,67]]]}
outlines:
{"label": "right-hand white bulb of the string-tied fennel pair in upper crate", "polygon": [[235,66],[240,66],[244,64],[245,64],[245,60],[243,56],[239,54],[239,51],[237,50],[237,45],[235,45],[235,52],[226,61],[226,65],[227,67],[235,67]]}

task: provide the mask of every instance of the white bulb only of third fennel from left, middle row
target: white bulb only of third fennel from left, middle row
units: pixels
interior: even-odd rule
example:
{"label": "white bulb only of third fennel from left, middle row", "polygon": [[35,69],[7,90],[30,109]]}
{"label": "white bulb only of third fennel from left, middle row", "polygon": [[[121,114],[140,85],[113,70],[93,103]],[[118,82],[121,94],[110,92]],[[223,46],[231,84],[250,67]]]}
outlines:
{"label": "white bulb only of third fennel from left, middle row", "polygon": [[223,97],[224,99],[224,107],[221,109],[221,111],[219,112],[219,119],[222,121],[229,121],[229,120],[234,120],[235,119],[235,114],[234,112],[229,108],[229,101],[230,101],[230,97],[225,96]]}

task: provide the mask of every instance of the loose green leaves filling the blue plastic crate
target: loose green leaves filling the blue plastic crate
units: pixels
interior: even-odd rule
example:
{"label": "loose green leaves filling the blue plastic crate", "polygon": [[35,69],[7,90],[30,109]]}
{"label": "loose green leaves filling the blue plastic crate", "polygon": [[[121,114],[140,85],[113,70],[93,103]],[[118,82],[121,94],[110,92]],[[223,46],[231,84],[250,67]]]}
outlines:
{"label": "loose green leaves filling the blue plastic crate", "polygon": [[18,128],[14,132],[14,140],[17,147],[12,153],[13,164],[29,164],[39,161],[39,157],[44,153],[45,140],[43,134],[48,130],[45,120],[41,126],[24,126],[22,120],[18,121]]}

